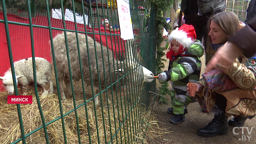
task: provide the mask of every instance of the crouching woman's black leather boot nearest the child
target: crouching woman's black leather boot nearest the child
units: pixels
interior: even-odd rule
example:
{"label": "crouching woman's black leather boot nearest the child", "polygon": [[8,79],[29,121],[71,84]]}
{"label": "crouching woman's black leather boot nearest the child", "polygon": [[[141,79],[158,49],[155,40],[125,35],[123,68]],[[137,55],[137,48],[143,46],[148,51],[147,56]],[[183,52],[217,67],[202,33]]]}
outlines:
{"label": "crouching woman's black leather boot nearest the child", "polygon": [[214,137],[218,134],[227,135],[228,134],[228,116],[225,112],[219,115],[214,115],[212,121],[206,125],[204,128],[197,130],[197,135],[202,137]]}

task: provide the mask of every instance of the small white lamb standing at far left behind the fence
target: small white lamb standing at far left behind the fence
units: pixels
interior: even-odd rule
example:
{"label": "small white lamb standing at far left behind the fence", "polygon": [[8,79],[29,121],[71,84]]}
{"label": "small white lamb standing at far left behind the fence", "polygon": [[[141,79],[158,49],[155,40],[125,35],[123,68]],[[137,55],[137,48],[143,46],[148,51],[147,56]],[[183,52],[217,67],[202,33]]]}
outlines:
{"label": "small white lamb standing at far left behind the fence", "polygon": [[[52,94],[52,65],[44,58],[35,57],[35,60],[36,82],[43,88],[42,95],[46,95],[48,93]],[[16,83],[20,84],[21,93],[26,95],[28,84],[34,83],[32,58],[16,61],[13,63],[13,65],[15,70]],[[3,81],[4,89],[7,90],[9,94],[13,94],[14,86],[12,81],[11,68],[9,68],[4,73],[4,76],[0,76],[0,80]]]}

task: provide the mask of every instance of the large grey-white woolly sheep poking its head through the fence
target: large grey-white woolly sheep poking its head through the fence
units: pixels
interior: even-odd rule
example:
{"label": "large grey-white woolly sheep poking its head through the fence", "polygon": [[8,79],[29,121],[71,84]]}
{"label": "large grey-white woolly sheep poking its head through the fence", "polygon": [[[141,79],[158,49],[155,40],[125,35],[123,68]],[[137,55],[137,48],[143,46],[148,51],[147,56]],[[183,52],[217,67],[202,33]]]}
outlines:
{"label": "large grey-white woolly sheep poking its head through the fence", "polygon": [[[126,68],[124,68],[124,65],[122,65],[124,69],[120,69],[121,62],[118,60],[117,64],[115,63],[115,71],[114,71],[114,63],[113,63],[112,54],[108,55],[107,47],[105,47],[103,45],[102,45],[102,51],[101,51],[100,43],[95,42],[96,51],[97,51],[97,62],[98,62],[98,66],[101,67],[101,68],[99,68],[100,69],[99,70],[100,81],[99,81],[98,73],[97,73],[94,41],[89,36],[87,36],[87,38],[88,38],[88,49],[89,49],[88,53],[90,55],[90,63],[91,63],[91,71],[92,71],[93,90],[94,90],[94,94],[98,94],[99,93],[99,83],[100,83],[102,90],[106,88],[105,79],[104,79],[104,71],[102,69],[103,65],[105,66],[105,72],[106,72],[105,75],[106,75],[107,86],[111,85],[113,82],[118,80],[118,75],[116,75],[117,73],[119,73],[119,77],[121,77],[122,73],[124,76],[124,69],[126,69]],[[78,41],[79,41],[84,82],[87,85],[91,85],[90,69],[89,69],[89,61],[88,61],[88,53],[87,53],[85,35],[78,33]],[[79,65],[79,59],[78,59],[76,33],[67,32],[67,43],[68,43],[68,50],[69,50],[69,59],[70,59],[70,65],[71,65],[72,79],[74,81],[78,81],[79,79],[81,79],[81,72],[80,72],[80,65]],[[63,78],[64,78],[64,82],[65,82],[67,90],[68,90],[68,94],[72,95],[72,91],[71,91],[71,85],[70,85],[68,59],[67,59],[64,33],[61,33],[53,38],[53,46],[54,46],[56,67],[57,67],[58,79],[59,79],[59,85],[60,85],[60,94],[61,94],[62,100],[65,100],[66,96],[63,91]],[[103,54],[104,61],[102,61],[102,54]],[[109,59],[108,59],[108,56],[109,56]],[[108,64],[110,65],[110,67],[108,66]],[[133,57],[129,61],[129,64],[131,64],[132,68],[135,68],[135,66],[138,66],[135,69],[135,71],[138,74],[140,74],[140,68],[142,67],[143,78],[144,78],[145,82],[151,82],[154,79],[153,73],[150,70],[148,70],[147,68],[145,68],[143,66],[139,66],[139,64],[136,61],[133,61]],[[117,70],[117,65],[118,65],[118,70]],[[125,72],[127,72],[127,70],[125,70]],[[116,79],[115,79],[115,75],[116,75]],[[110,81],[110,77],[112,79],[112,82]],[[117,90],[118,90],[119,83],[120,83],[120,85],[122,85],[122,83],[125,84],[125,80],[123,81],[123,79],[121,79],[121,80],[117,81],[116,85],[114,86],[114,88],[117,88]],[[98,96],[95,97],[94,100],[95,100],[96,104],[99,103]]]}

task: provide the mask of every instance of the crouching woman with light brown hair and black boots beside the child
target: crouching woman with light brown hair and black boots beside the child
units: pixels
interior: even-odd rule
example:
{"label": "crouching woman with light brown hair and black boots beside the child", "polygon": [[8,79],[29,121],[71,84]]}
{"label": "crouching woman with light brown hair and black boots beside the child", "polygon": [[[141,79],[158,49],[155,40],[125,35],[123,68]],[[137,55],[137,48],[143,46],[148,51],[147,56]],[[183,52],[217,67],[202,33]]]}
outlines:
{"label": "crouching woman with light brown hair and black boots beside the child", "polygon": [[[211,37],[213,51],[217,51],[229,38],[236,36],[236,32],[240,29],[239,20],[233,12],[218,13],[215,16],[212,16],[209,22],[209,36]],[[244,30],[244,28],[242,28],[242,30]],[[242,43],[241,40],[240,43]],[[224,44],[224,46],[226,44]],[[233,53],[230,49],[225,52],[225,55]],[[240,57],[238,55],[236,56]],[[212,59],[215,60],[214,57]],[[196,82],[197,95],[200,98],[205,98],[207,111],[214,112],[212,121],[204,128],[197,130],[198,135],[203,137],[214,137],[218,134],[226,135],[228,133],[228,125],[242,126],[247,118],[255,116],[255,109],[244,102],[244,100],[252,103],[256,102],[256,93],[253,90],[256,86],[255,75],[251,70],[247,69],[247,67],[253,68],[255,66],[255,61],[253,66],[250,65],[250,63],[247,65],[247,62],[245,62],[246,59],[243,58],[242,60],[243,64],[236,59],[234,64],[232,63],[230,65],[231,67],[228,71],[222,71],[220,69],[211,69],[210,71],[208,69],[208,71],[202,75],[203,79]],[[212,66],[212,60],[209,64]],[[225,67],[219,63],[216,63],[216,66],[218,68]],[[242,75],[242,77],[237,77],[237,75]],[[244,77],[250,79],[251,83],[244,84],[242,82],[244,81]],[[243,107],[244,109],[238,107]],[[233,119],[228,122],[228,116],[231,115],[243,118]]]}

